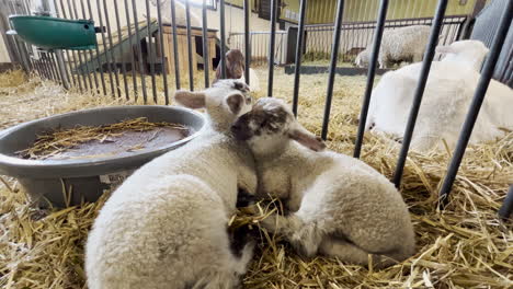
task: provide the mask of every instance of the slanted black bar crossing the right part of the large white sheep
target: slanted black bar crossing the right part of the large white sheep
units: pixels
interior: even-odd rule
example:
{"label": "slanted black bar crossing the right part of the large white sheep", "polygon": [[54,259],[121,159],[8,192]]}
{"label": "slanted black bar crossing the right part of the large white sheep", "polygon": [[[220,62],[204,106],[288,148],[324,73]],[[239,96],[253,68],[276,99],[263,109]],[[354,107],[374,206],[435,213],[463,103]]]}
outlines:
{"label": "slanted black bar crossing the right part of the large white sheep", "polygon": [[470,135],[472,134],[474,125],[476,124],[476,119],[479,115],[479,109],[481,108],[482,102],[485,101],[487,89],[490,84],[493,71],[495,70],[497,60],[501,54],[512,18],[513,1],[509,1],[502,14],[497,33],[493,37],[493,44],[491,46],[490,54],[482,69],[481,77],[479,78],[476,92],[474,93],[472,103],[468,109],[461,132],[459,134],[458,142],[456,143],[456,149],[453,153],[453,159],[451,160],[447,174],[440,190],[440,199],[442,205],[445,205],[448,201],[451,188],[453,187],[456,174],[458,173],[459,164],[461,163],[461,159],[465,154],[465,149],[467,148]]}

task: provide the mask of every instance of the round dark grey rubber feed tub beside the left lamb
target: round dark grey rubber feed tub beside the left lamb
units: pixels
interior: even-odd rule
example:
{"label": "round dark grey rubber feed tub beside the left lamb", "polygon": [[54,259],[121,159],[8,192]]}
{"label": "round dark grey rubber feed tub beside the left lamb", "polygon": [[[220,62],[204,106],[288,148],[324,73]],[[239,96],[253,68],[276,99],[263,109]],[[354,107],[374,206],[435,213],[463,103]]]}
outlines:
{"label": "round dark grey rubber feed tub beside the left lamb", "polygon": [[[184,125],[189,134],[181,140],[123,155],[27,160],[16,154],[32,146],[37,135],[48,130],[109,125],[137,117]],[[61,208],[95,201],[104,189],[123,182],[137,167],[195,138],[205,124],[204,116],[194,111],[157,105],[102,107],[24,123],[0,131],[0,175],[16,177],[39,207]]]}

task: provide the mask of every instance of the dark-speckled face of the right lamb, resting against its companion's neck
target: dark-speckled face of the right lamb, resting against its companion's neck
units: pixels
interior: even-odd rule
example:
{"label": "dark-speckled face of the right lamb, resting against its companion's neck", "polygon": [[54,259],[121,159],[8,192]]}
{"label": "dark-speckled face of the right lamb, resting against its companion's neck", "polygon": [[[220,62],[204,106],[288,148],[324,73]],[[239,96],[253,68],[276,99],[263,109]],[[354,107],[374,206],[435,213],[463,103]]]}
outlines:
{"label": "dark-speckled face of the right lamb, resting against its companion's neck", "polygon": [[326,148],[320,138],[297,123],[283,101],[271,97],[260,99],[251,112],[237,119],[231,132],[237,139],[247,141],[259,155],[280,151],[290,139],[314,151]]}

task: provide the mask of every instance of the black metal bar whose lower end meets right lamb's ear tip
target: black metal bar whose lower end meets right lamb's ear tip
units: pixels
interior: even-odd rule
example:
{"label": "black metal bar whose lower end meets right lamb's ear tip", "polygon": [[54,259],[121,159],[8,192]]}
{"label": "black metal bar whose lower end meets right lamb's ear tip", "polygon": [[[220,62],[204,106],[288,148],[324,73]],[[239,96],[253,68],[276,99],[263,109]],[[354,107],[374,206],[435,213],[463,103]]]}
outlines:
{"label": "black metal bar whose lower end meets right lamb's ear tip", "polygon": [[339,51],[339,44],[340,44],[340,33],[342,28],[342,14],[344,12],[344,0],[339,0],[339,4],[337,8],[337,20],[335,20],[335,28],[333,33],[333,46],[331,48],[331,61],[330,61],[330,72],[328,77],[328,92],[326,96],[326,104],[324,104],[324,117],[322,119],[322,131],[321,138],[326,140],[328,136],[328,125],[330,123],[330,112],[331,112],[331,99],[333,97],[333,82],[334,82],[334,74],[337,70],[337,57]]}

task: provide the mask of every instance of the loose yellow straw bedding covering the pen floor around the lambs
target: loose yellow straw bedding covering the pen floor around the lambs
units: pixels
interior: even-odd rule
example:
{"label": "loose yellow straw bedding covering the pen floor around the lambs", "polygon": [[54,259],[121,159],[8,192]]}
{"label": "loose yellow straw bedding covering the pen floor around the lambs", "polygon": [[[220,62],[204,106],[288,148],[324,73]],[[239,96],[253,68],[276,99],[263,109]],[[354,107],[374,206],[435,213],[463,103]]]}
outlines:
{"label": "loose yellow straw bedding covering the pen floor around the lambs", "polygon": [[[261,88],[265,71],[258,70]],[[18,72],[14,72],[18,73]],[[1,78],[9,78],[1,76]],[[197,82],[202,76],[197,76]],[[172,83],[173,79],[170,80]],[[320,132],[326,74],[301,76],[299,120]],[[45,115],[84,107],[126,103],[110,97],[66,93],[35,78],[0,94],[1,127]],[[32,84],[31,84],[32,83]],[[161,79],[158,79],[158,86]],[[159,84],[160,83],[160,84]],[[337,77],[328,146],[352,153],[364,77]],[[24,90],[24,85],[32,85]],[[290,100],[293,77],[275,72],[274,95]],[[173,85],[170,85],[173,89]],[[0,90],[4,91],[4,86]],[[160,89],[159,89],[160,91]],[[151,93],[149,94],[151,95]],[[263,96],[263,92],[259,95]],[[158,93],[163,103],[163,94]],[[128,102],[130,104],[130,102]],[[3,117],[7,116],[7,117]],[[366,136],[362,159],[390,177],[397,148]],[[451,204],[436,209],[436,194],[451,151],[411,152],[401,194],[410,207],[418,253],[384,270],[343,264],[337,258],[304,259],[277,236],[261,231],[261,241],[244,277],[246,288],[511,288],[513,286],[513,232],[497,218],[508,184],[513,182],[513,132],[497,141],[472,146],[454,185]],[[41,211],[30,207],[23,189],[3,176],[0,183],[0,287],[84,288],[83,243],[106,195],[81,208]],[[250,223],[275,209],[260,205],[261,216],[241,212],[233,226]]]}

